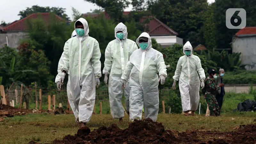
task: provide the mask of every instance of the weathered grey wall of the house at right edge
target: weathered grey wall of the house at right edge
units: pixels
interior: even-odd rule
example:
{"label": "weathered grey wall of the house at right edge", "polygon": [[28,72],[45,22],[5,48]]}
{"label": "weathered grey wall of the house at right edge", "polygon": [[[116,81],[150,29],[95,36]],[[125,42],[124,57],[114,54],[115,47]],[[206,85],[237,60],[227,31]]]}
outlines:
{"label": "weathered grey wall of the house at right edge", "polygon": [[246,70],[256,70],[256,36],[235,37],[232,50],[241,52],[242,64],[250,64],[250,66],[245,66]]}

